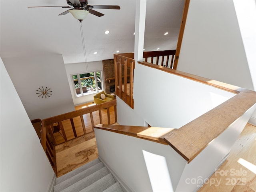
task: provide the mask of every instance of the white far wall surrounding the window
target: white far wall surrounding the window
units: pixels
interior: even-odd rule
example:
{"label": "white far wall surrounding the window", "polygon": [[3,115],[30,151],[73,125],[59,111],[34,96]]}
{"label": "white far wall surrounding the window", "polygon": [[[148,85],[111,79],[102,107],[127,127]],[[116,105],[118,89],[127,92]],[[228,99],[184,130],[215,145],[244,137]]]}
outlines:
{"label": "white far wall surrounding the window", "polygon": [[[73,89],[74,84],[72,82],[71,74],[81,74],[81,73],[88,73],[88,72],[97,71],[97,70],[103,70],[102,61],[87,62],[87,64],[88,64],[88,71],[86,69],[85,63],[65,64],[66,74],[68,77],[68,84],[69,84],[69,87],[71,90],[74,105],[92,102],[93,96],[95,95],[95,93],[88,94],[86,96],[76,97],[76,94]],[[104,74],[102,73],[102,75],[104,75]],[[104,76],[102,77],[102,79],[103,79],[103,84],[104,84],[105,83]]]}

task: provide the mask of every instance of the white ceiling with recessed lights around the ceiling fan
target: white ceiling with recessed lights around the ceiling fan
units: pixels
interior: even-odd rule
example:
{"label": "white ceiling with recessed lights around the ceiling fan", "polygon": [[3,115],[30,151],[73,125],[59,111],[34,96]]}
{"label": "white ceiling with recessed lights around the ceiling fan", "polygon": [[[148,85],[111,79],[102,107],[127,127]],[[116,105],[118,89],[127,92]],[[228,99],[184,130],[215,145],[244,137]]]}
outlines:
{"label": "white ceiling with recessed lights around the ceiling fan", "polygon": [[[87,62],[134,52],[136,0],[88,0],[89,4],[119,5],[120,10],[95,9],[105,14],[88,14],[82,21]],[[176,49],[184,0],[147,0],[145,51]],[[66,0],[0,0],[1,58],[62,54],[64,63],[84,62],[80,24]],[[110,30],[109,34],[104,34]],[[165,32],[169,32],[164,36]],[[98,54],[93,54],[98,52]]]}

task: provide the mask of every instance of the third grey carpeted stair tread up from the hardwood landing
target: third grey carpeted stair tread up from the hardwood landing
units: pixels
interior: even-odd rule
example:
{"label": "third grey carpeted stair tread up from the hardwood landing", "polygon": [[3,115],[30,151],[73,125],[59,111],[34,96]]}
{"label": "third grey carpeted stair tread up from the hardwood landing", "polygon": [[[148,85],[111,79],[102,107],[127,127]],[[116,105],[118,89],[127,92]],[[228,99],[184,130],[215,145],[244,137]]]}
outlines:
{"label": "third grey carpeted stair tread up from the hardwood landing", "polygon": [[98,181],[99,179],[103,178],[104,176],[108,175],[109,172],[106,167],[101,168],[100,170],[90,174],[86,178],[70,185],[69,187],[65,188],[61,192],[79,192],[80,190],[90,186],[94,182]]}

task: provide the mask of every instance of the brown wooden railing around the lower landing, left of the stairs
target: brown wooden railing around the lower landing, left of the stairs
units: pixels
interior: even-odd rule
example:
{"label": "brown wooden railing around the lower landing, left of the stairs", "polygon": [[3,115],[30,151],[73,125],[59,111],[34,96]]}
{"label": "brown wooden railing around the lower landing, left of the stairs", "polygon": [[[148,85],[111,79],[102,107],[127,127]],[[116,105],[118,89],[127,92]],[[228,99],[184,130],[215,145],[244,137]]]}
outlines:
{"label": "brown wooden railing around the lower landing, left of the stairs", "polygon": [[[110,112],[111,107],[114,107],[114,114],[113,112]],[[104,116],[102,116],[101,110],[107,111],[106,119],[104,118]],[[99,115],[99,120],[95,120],[93,116],[93,112],[97,112],[97,111]],[[86,115],[86,114],[90,114],[90,123],[91,123],[90,127],[86,127],[84,123],[83,115]],[[112,115],[114,115],[114,118],[110,118]],[[74,123],[74,118],[76,118],[76,123]],[[77,122],[78,118],[80,120],[80,123]],[[111,122],[111,119],[114,119],[114,122]],[[72,137],[69,136],[67,140],[72,140],[74,138],[87,134],[89,133],[88,130],[90,130],[90,132],[94,131],[94,124],[98,124],[99,122],[100,124],[102,124],[103,122],[106,123],[106,120],[107,120],[107,124],[113,124],[117,122],[116,100],[112,100],[112,101],[98,104],[95,106],[86,107],[80,110],[75,110],[72,112],[68,112],[65,114],[61,114],[58,116],[54,116],[54,117],[50,117],[42,120],[41,145],[55,173],[57,173],[55,146],[60,143],[57,143],[53,133],[54,124],[59,124],[60,129],[62,130],[62,133],[65,134],[65,130],[64,130],[65,127],[64,127],[64,123],[62,122],[66,120],[70,121],[72,131],[74,134],[74,136]],[[81,129],[81,128],[83,129],[83,134],[78,135],[77,129]]]}

